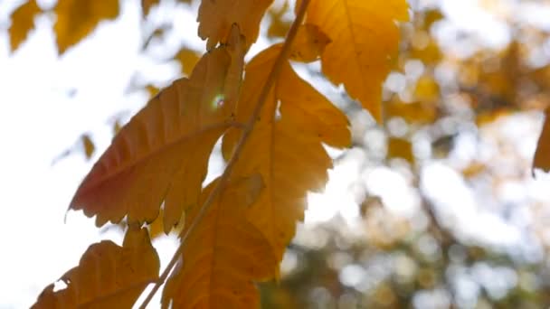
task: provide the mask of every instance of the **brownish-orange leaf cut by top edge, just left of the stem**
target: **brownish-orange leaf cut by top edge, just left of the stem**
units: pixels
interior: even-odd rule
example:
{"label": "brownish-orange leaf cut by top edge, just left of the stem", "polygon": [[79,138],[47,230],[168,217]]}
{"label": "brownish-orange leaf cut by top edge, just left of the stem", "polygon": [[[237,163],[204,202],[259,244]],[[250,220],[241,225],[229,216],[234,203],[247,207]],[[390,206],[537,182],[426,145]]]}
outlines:
{"label": "brownish-orange leaf cut by top edge, just left of the stem", "polygon": [[218,42],[227,42],[233,23],[246,39],[246,50],[258,38],[261,17],[273,0],[204,0],[199,7],[199,36],[211,50]]}

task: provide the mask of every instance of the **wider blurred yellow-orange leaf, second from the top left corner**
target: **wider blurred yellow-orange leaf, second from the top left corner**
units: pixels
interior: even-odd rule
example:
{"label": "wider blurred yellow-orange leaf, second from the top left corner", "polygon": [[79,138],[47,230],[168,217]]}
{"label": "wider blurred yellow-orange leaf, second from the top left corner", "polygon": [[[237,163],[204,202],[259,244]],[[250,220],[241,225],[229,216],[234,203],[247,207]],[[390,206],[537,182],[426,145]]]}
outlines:
{"label": "wider blurred yellow-orange leaf, second from the top left corner", "polygon": [[54,9],[57,19],[53,30],[59,53],[80,42],[97,25],[119,15],[119,0],[59,0]]}

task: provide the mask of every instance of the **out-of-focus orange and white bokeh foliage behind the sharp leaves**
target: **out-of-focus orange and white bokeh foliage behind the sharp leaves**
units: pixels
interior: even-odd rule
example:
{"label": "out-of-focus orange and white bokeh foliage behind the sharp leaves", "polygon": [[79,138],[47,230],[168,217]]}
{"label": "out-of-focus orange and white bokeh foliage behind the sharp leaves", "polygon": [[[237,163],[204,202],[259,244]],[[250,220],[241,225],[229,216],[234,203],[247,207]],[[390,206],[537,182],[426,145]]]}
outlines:
{"label": "out-of-focus orange and white bokeh foliage behind the sharp leaves", "polygon": [[[33,10],[51,13],[50,2]],[[384,83],[384,126],[323,80],[318,63],[297,64],[351,119],[354,144],[335,152],[350,201],[328,199],[347,212],[300,225],[280,280],[260,286],[265,308],[550,305],[550,196],[546,175],[536,172],[536,179],[531,170],[550,103],[550,2],[409,3],[412,22],[401,27],[400,55]],[[476,10],[457,17],[459,3]],[[181,40],[195,33],[177,33],[181,15],[171,12],[196,12],[197,1],[142,4],[141,52],[189,75],[203,45]],[[293,6],[274,2],[252,53],[284,39]],[[85,18],[94,22],[78,35],[100,19]],[[71,48],[67,40],[58,40],[60,52]],[[169,81],[137,71],[128,92],[150,98]],[[129,115],[109,120],[113,134]],[[90,158],[101,147],[83,133],[62,156],[76,150]],[[151,227],[156,236],[161,229]]]}

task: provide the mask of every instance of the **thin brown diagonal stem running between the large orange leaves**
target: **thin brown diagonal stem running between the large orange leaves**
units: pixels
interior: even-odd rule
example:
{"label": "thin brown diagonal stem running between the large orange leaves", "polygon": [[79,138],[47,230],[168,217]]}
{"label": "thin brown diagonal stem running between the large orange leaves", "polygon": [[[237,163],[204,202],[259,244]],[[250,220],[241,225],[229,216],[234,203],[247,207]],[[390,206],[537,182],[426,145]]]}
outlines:
{"label": "thin brown diagonal stem running between the large orange leaves", "polygon": [[147,295],[147,298],[143,301],[143,304],[141,304],[139,308],[145,309],[147,307],[147,304],[149,304],[153,296],[156,294],[156,291],[160,288],[162,284],[165,283],[166,277],[171,273],[172,269],[175,267],[175,263],[177,263],[177,261],[179,260],[179,257],[182,254],[182,251],[185,246],[185,241],[189,238],[189,235],[191,235],[191,233],[194,231],[194,229],[200,223],[200,221],[203,220],[203,217],[206,214],[206,211],[210,209],[213,201],[218,197],[218,195],[221,192],[223,192],[223,189],[225,188],[225,185],[229,181],[229,177],[231,176],[231,173],[235,164],[239,161],[239,158],[242,153],[242,148],[248,141],[249,136],[251,136],[252,129],[256,124],[256,119],[260,116],[261,108],[263,108],[265,104],[266,98],[270,93],[270,89],[271,87],[273,87],[273,84],[275,83],[275,81],[279,78],[280,70],[282,68],[284,61],[287,61],[289,58],[290,47],[292,45],[292,42],[294,41],[294,38],[296,37],[296,33],[298,33],[299,25],[302,23],[302,20],[304,19],[306,10],[309,5],[309,1],[310,0],[303,0],[299,7],[299,12],[296,16],[296,19],[292,23],[292,26],[289,29],[287,39],[283,44],[283,47],[280,51],[279,56],[277,57],[277,60],[273,64],[273,68],[270,71],[268,80],[266,80],[265,85],[261,89],[261,94],[260,94],[260,97],[258,98],[258,102],[256,103],[256,107],[254,108],[254,111],[252,112],[251,117],[249,118],[248,122],[245,124],[242,130],[241,139],[239,140],[239,143],[235,147],[231,160],[225,167],[225,170],[223,171],[222,176],[220,176],[218,183],[216,183],[216,185],[214,186],[213,191],[210,192],[210,194],[208,195],[208,198],[206,199],[206,201],[204,201],[204,204],[203,206],[201,206],[199,213],[191,222],[189,229],[187,229],[185,231],[184,236],[182,236],[180,245],[175,250],[174,256],[166,266],[165,271],[158,278],[158,280],[156,280],[155,286],[153,286],[153,289],[149,292],[149,294]]}

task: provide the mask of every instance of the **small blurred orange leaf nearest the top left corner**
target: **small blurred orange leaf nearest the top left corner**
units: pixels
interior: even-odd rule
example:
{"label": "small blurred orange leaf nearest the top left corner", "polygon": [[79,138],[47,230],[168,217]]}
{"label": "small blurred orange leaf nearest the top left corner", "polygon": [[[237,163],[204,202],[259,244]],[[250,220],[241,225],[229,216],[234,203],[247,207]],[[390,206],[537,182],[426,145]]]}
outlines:
{"label": "small blurred orange leaf nearest the top left corner", "polygon": [[34,28],[34,17],[42,13],[35,0],[29,0],[19,6],[12,14],[12,25],[9,29],[10,50],[14,52],[24,42],[29,32]]}

